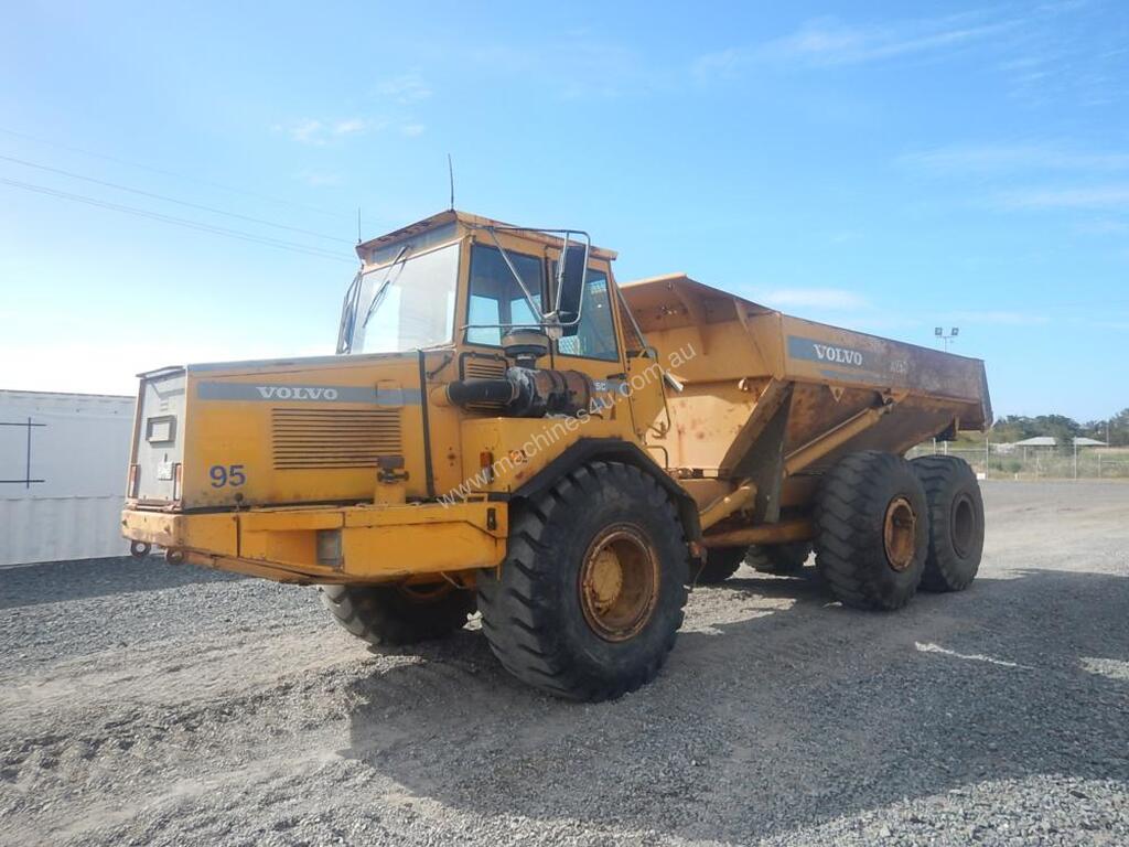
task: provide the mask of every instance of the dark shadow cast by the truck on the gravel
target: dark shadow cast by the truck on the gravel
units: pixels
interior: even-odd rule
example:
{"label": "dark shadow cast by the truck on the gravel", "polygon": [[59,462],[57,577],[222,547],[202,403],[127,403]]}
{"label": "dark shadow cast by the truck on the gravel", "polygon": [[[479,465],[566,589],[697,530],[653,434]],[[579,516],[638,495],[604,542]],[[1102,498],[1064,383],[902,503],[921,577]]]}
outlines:
{"label": "dark shadow cast by the truck on the gravel", "polygon": [[[735,592],[744,617],[710,622]],[[1129,578],[1100,574],[982,578],[893,614],[735,579],[695,592],[664,673],[616,702],[542,696],[464,630],[353,683],[343,752],[474,814],[735,840],[987,780],[1129,780],[1127,609]]]}

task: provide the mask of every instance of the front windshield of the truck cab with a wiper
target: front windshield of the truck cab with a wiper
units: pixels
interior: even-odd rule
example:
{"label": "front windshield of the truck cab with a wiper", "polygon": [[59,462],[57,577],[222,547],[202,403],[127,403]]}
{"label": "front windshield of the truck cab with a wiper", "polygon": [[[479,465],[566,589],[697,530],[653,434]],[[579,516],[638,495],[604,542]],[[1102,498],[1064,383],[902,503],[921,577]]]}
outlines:
{"label": "front windshield of the truck cab with a wiper", "polygon": [[413,255],[409,246],[392,263],[360,278],[349,351],[403,352],[452,339],[458,243]]}

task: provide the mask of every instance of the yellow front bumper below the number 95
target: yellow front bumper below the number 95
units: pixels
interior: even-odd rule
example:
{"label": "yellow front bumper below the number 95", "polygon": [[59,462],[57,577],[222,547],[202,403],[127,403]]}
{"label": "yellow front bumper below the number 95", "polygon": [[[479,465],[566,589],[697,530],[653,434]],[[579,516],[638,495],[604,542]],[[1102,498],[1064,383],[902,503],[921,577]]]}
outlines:
{"label": "yellow front bumper below the number 95", "polygon": [[126,508],[122,534],[172,561],[288,583],[387,583],[499,565],[505,503],[279,507],[165,513]]}

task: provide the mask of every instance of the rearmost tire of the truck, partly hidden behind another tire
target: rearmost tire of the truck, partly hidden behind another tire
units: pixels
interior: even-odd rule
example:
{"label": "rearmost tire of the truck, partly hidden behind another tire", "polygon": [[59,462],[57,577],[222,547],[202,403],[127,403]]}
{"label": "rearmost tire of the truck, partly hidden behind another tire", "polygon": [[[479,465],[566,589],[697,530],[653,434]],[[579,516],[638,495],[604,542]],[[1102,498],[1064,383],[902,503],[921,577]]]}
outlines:
{"label": "rearmost tire of the truck, partly hidden behind another tire", "polygon": [[977,474],[956,456],[921,456],[910,464],[925,488],[929,509],[921,587],[963,591],[980,569],[984,545],[984,504]]}

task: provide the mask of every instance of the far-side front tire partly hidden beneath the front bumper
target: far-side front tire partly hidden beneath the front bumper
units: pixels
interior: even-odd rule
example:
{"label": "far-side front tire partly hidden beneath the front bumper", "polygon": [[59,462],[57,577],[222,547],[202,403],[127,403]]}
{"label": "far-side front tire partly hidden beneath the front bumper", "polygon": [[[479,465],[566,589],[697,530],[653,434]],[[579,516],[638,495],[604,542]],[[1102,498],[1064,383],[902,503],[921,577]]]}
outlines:
{"label": "far-side front tire partly hidden beneath the front bumper", "polygon": [[349,632],[374,646],[444,638],[466,623],[474,594],[435,585],[320,585],[322,605]]}

